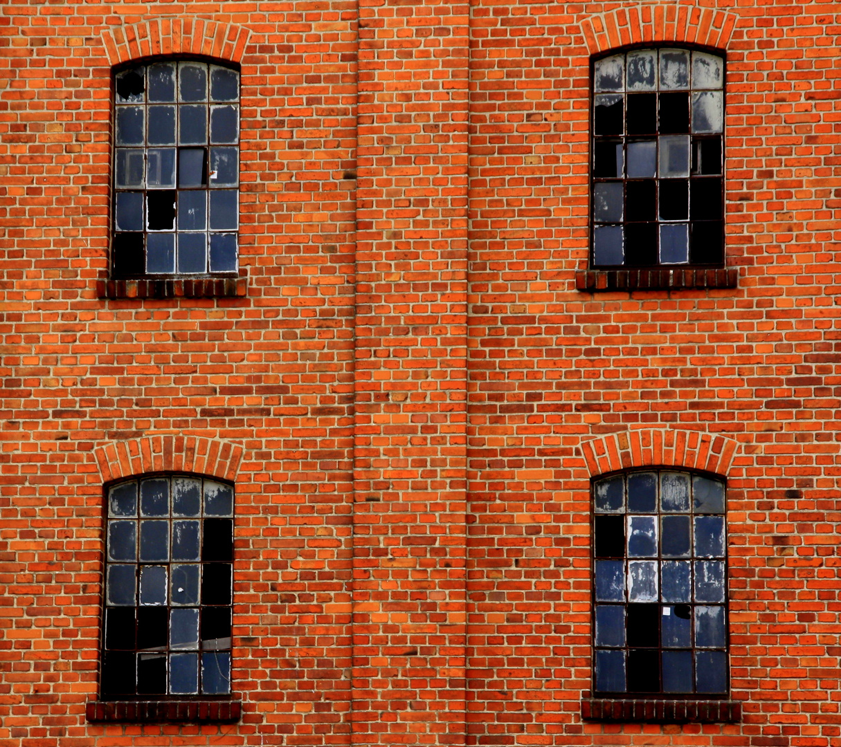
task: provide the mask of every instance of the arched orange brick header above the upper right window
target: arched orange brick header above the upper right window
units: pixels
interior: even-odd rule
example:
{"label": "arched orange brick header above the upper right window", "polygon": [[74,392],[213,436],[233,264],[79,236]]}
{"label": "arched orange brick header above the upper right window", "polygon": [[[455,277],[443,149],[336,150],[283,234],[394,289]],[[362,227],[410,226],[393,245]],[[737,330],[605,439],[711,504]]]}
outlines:
{"label": "arched orange brick header above the upper right window", "polygon": [[675,42],[727,48],[738,16],[695,5],[637,5],[584,18],[591,55],[625,45]]}

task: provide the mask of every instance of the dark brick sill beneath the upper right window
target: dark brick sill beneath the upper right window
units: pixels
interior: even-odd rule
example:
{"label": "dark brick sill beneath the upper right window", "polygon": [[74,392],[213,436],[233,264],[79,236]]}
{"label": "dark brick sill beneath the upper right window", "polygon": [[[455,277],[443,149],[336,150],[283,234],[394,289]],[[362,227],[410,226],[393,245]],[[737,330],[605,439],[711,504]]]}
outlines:
{"label": "dark brick sill beneath the upper right window", "polygon": [[710,270],[579,270],[575,287],[590,293],[615,291],[680,291],[692,288],[735,288],[738,269]]}

